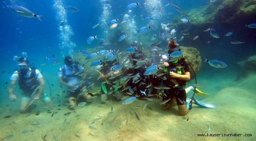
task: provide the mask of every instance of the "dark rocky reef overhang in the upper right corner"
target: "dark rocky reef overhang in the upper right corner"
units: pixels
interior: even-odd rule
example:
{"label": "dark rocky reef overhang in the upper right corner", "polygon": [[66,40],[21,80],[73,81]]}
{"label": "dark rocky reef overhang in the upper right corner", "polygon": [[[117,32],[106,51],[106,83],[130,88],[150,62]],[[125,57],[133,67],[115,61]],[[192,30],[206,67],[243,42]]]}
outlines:
{"label": "dark rocky reef overhang in the upper right corner", "polygon": [[[211,4],[198,7],[177,15],[173,22],[177,23],[178,32],[186,31],[189,35],[199,35],[201,40],[209,40],[206,29],[213,27],[221,35],[227,32],[237,33],[240,40],[254,41],[255,30],[245,28],[245,25],[255,23],[256,0],[216,0]],[[190,20],[187,24],[181,22],[182,18]],[[180,31],[179,31],[180,30]],[[245,32],[246,31],[246,32]],[[248,36],[251,35],[251,36]],[[193,39],[192,37],[191,40]],[[189,45],[191,42],[185,43]],[[199,44],[194,43],[198,46]]]}

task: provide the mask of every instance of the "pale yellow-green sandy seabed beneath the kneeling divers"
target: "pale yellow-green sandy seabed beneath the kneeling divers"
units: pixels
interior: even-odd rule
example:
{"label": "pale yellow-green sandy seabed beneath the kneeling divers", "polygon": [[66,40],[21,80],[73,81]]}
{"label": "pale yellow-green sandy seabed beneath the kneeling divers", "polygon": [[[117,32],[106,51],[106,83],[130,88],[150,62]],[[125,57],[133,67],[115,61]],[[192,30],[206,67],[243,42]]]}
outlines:
{"label": "pale yellow-green sandy seabed beneath the kneeling divers", "polygon": [[[74,111],[64,106],[54,107],[50,110],[57,112],[53,117],[52,113],[46,112],[47,109],[41,108],[33,110],[30,116],[25,117],[28,114],[19,114],[18,107],[10,107],[10,103],[8,107],[4,105],[0,108],[0,138],[13,134],[13,137],[4,140],[43,141],[42,135],[46,135],[47,141],[254,141],[256,93],[253,92],[255,87],[250,90],[246,87],[246,83],[249,86],[255,84],[256,79],[252,78],[256,78],[256,75],[253,74],[235,83],[234,87],[221,89],[217,94],[201,100],[202,103],[214,105],[215,108],[207,109],[193,105],[186,116],[180,116],[176,105],[169,110],[161,110],[160,99],[149,101],[147,107],[152,110],[142,110],[147,101],[135,100],[129,105],[123,105],[122,101],[115,101],[113,98],[110,102],[101,104],[98,96],[96,101],[88,102],[83,107],[76,107]],[[37,105],[40,107],[43,103],[39,102]],[[108,114],[111,112],[111,106],[113,114]],[[13,110],[9,111],[10,108]],[[58,108],[61,110],[57,110]],[[35,115],[37,111],[40,111],[38,116]],[[71,112],[70,116],[64,116],[67,112]],[[8,115],[11,117],[3,118]],[[92,123],[93,119],[99,117],[101,119]],[[116,118],[113,121],[114,117]],[[66,124],[63,125],[65,119]],[[127,119],[129,122],[126,125]],[[96,129],[89,128],[89,125]],[[210,132],[206,132],[208,125],[211,128]],[[33,132],[22,134],[24,130]],[[198,137],[198,134],[207,133],[242,135]],[[245,137],[245,134],[251,134],[252,137]]]}

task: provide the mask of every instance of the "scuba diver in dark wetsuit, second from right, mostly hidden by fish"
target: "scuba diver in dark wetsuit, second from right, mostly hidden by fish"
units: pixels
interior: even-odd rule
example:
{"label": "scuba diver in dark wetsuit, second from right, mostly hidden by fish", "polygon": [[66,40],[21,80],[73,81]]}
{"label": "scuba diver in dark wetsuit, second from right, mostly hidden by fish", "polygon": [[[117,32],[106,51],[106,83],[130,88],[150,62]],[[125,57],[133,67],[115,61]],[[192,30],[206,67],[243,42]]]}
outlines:
{"label": "scuba diver in dark wetsuit, second from right, mostly hidden by fish", "polygon": [[[128,68],[125,74],[132,74],[134,75],[134,78],[132,78],[127,82],[126,87],[130,87],[131,89],[136,89],[134,90],[133,95],[139,96],[138,98],[143,99],[147,97],[148,94],[151,94],[152,92],[152,89],[146,88],[146,86],[150,83],[150,77],[143,75],[143,73],[146,71],[146,67],[148,66],[146,64],[148,60],[145,60],[144,54],[142,53],[138,45],[133,45],[133,48],[136,49],[136,52],[129,54],[129,60],[132,66],[135,66],[135,67]],[[138,60],[146,61],[146,63],[142,65],[137,65]],[[131,90],[128,89],[127,92],[131,92]]]}

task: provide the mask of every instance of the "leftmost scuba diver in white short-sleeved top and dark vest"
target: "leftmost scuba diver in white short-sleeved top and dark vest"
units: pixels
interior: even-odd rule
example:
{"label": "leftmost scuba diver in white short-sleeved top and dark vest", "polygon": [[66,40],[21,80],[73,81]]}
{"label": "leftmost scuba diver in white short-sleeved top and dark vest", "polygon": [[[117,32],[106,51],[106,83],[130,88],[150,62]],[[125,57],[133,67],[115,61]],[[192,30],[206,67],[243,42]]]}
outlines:
{"label": "leftmost scuba diver in white short-sleeved top and dark vest", "polygon": [[[23,52],[22,55],[24,56],[24,54],[26,53]],[[51,101],[47,94],[43,94],[45,81],[42,74],[35,67],[30,67],[30,65],[28,65],[29,61],[26,57],[14,57],[14,60],[19,63],[19,69],[13,72],[10,78],[11,84],[8,87],[9,98],[11,101],[15,101],[17,96],[14,94],[14,87],[17,81],[19,81],[19,87],[24,92],[24,96],[21,98],[20,113],[31,112],[32,104],[38,101],[41,97],[45,104],[48,104]]]}

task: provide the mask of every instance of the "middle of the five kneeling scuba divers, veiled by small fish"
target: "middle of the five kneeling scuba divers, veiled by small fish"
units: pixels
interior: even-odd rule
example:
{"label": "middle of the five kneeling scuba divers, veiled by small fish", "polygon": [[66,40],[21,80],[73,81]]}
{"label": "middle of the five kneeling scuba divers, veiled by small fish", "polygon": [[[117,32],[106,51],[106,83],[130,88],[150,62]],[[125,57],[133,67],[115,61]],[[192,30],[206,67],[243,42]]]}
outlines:
{"label": "middle of the five kneeling scuba divers, veiled by small fish", "polygon": [[[106,57],[105,57],[106,59]],[[111,94],[114,92],[115,94],[115,99],[117,101],[120,101],[122,98],[122,93],[119,92],[119,88],[113,88],[112,87],[112,82],[115,81],[114,85],[120,85],[119,83],[119,77],[115,77],[113,79],[110,79],[112,76],[121,74],[122,71],[111,71],[111,67],[114,65],[119,65],[119,61],[116,59],[112,61],[103,61],[102,66],[103,68],[98,71],[101,75],[101,89],[103,90],[103,94],[100,95],[101,103],[104,104],[107,102],[108,99],[108,94]]]}

